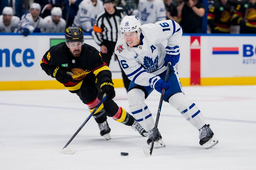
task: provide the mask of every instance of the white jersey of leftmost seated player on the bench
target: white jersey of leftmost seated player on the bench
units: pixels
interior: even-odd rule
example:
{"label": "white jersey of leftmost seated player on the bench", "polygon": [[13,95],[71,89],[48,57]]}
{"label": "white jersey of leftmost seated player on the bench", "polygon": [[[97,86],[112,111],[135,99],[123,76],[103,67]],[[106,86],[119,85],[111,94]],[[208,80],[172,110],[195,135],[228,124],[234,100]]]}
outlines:
{"label": "white jersey of leftmost seated player on the bench", "polygon": [[19,26],[20,18],[12,16],[10,24],[8,26],[4,25],[3,15],[0,15],[0,32],[13,33]]}

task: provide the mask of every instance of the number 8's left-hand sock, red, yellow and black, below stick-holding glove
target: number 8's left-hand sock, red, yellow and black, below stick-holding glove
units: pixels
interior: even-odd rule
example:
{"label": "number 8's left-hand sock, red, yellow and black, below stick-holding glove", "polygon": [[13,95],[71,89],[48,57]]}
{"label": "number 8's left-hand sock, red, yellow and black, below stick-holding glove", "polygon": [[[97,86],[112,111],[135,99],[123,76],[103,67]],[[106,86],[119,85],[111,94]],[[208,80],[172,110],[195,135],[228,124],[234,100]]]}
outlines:
{"label": "number 8's left-hand sock, red, yellow and black, below stick-holding glove", "polygon": [[[94,99],[92,102],[87,103],[87,107],[89,108],[90,113],[95,109],[95,107],[100,103],[98,98]],[[105,114],[103,103],[100,105],[98,110],[92,115],[97,123],[102,123],[107,120],[107,115]]]}

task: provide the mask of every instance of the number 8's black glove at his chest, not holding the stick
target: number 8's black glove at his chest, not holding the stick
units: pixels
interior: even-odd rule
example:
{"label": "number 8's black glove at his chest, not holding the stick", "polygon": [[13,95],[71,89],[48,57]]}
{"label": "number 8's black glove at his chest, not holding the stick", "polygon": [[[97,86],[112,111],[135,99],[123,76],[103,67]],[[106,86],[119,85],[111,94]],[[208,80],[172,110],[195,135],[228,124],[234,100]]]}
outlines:
{"label": "number 8's black glove at his chest, not holding the stick", "polygon": [[59,66],[52,68],[52,78],[56,78],[62,84],[68,83],[72,80],[72,76],[67,74],[66,70],[61,69]]}

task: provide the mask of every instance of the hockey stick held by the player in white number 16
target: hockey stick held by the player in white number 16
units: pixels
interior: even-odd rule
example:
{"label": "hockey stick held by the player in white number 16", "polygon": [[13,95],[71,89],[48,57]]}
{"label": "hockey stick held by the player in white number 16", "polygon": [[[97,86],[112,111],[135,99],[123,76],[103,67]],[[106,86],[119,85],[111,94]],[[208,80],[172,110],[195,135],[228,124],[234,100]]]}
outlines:
{"label": "hockey stick held by the player in white number 16", "polygon": [[[167,70],[166,70],[166,74],[165,74],[165,78],[164,78],[164,81],[167,81],[168,80],[168,76],[169,76],[169,72],[170,72],[170,67],[171,67],[171,63],[169,62],[168,63],[168,66],[167,66]],[[157,112],[157,115],[156,115],[156,123],[155,123],[155,127],[154,127],[154,134],[153,134],[153,138],[152,138],[152,142],[151,142],[151,146],[150,146],[150,149],[144,149],[144,153],[146,156],[151,156],[152,154],[152,151],[153,151],[153,147],[154,147],[154,139],[156,137],[156,131],[157,131],[157,125],[158,125],[158,121],[159,121],[159,117],[160,117],[160,112],[161,112],[161,108],[162,108],[162,104],[163,104],[163,100],[164,100],[164,92],[165,92],[165,89],[163,88],[162,89],[162,93],[161,93],[161,97],[160,97],[160,102],[159,102],[159,106],[158,106],[158,112]]]}

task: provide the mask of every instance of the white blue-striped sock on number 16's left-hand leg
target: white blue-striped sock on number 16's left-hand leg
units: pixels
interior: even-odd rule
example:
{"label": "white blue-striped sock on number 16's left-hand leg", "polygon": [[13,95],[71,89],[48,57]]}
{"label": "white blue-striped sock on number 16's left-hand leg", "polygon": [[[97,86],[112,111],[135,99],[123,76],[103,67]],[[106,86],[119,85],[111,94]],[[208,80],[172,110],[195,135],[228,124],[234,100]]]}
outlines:
{"label": "white blue-striped sock on number 16's left-hand leg", "polygon": [[132,89],[127,93],[129,108],[133,117],[149,132],[155,126],[148,106],[145,104],[145,93],[141,89]]}

